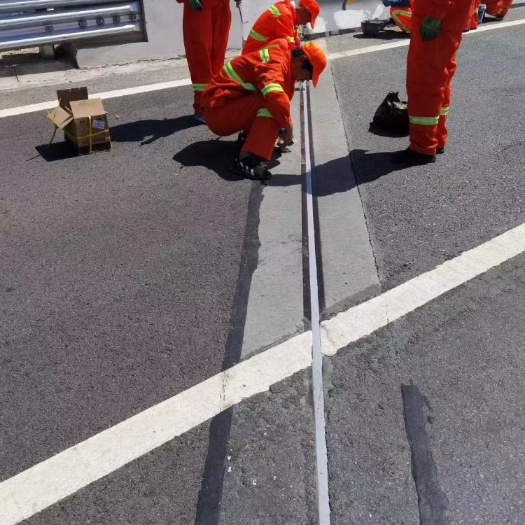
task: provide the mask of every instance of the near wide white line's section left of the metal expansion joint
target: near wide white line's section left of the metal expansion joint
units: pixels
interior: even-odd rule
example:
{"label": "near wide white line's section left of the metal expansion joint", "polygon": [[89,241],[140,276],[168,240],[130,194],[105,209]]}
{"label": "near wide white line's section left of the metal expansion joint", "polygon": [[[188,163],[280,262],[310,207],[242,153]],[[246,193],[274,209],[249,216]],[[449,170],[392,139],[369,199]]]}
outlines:
{"label": "near wide white line's section left of the metal expansion joint", "polygon": [[305,332],[7,479],[0,524],[31,517],[310,363]]}

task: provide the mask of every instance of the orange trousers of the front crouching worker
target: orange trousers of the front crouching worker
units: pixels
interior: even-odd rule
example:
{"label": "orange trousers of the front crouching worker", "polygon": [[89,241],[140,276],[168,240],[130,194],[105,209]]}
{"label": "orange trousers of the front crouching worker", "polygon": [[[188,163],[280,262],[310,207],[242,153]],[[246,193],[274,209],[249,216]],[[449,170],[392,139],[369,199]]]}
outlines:
{"label": "orange trousers of the front crouching worker", "polygon": [[228,100],[224,106],[204,109],[204,118],[212,132],[221,137],[246,132],[242,151],[265,160],[272,157],[279,136],[279,124],[267,114],[265,99],[259,93]]}

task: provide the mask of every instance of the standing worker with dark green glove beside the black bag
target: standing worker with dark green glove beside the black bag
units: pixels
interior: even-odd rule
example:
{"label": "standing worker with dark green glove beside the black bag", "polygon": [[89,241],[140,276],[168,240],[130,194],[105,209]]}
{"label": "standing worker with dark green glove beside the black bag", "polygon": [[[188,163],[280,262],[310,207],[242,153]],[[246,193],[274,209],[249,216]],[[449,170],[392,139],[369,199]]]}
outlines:
{"label": "standing worker with dark green glove beside the black bag", "polygon": [[470,19],[472,0],[417,0],[412,10],[412,36],[407,57],[410,146],[393,162],[435,162],[447,144],[450,83],[456,52]]}

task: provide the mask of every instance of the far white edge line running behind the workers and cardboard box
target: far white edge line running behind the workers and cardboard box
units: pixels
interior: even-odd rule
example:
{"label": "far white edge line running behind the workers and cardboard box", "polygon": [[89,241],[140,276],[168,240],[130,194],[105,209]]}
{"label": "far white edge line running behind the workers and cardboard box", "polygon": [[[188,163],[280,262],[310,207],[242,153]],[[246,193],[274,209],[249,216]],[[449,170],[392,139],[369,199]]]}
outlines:
{"label": "far white edge line running behind the workers and cardboard box", "polygon": [[[525,19],[512,20],[511,22],[494,22],[493,24],[481,25],[476,31],[469,31],[466,35],[476,34],[480,31],[491,31],[492,29],[502,29],[503,27],[512,27],[515,25],[525,24]],[[326,55],[329,60],[335,60],[344,57],[353,57],[356,55],[363,55],[365,53],[383,51],[391,48],[401,48],[409,44],[409,39],[390,42],[379,45],[370,45],[366,48],[352,49],[349,51],[341,51],[330,53]],[[157,84],[141,85],[137,87],[127,87],[122,90],[106,91],[104,93],[95,93],[90,95],[90,99],[113,99],[116,97],[125,97],[130,94],[147,93],[151,91],[167,90],[171,87],[180,87],[182,85],[190,85],[190,78],[183,78],[181,80],[171,80],[169,82],[160,82]],[[50,100],[49,102],[40,102],[38,104],[29,104],[27,106],[18,106],[15,108],[0,109],[0,118],[13,117],[16,115],[23,115],[25,113],[34,113],[35,111],[45,111],[46,109],[52,109],[57,105],[56,100]]]}

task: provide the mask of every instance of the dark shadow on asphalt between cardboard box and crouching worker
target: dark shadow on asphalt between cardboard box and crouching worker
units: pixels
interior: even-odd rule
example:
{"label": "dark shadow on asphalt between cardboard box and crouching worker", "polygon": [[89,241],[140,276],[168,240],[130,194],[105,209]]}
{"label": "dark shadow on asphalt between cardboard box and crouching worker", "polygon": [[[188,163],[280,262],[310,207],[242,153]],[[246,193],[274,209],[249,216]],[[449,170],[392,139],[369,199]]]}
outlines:
{"label": "dark shadow on asphalt between cardboard box and crouching worker", "polygon": [[197,120],[193,118],[193,115],[165,118],[163,120],[138,120],[137,122],[112,126],[111,140],[113,140],[113,142],[141,141],[141,146],[146,146],[158,139],[169,137],[176,132],[201,125],[202,123],[197,122]]}

